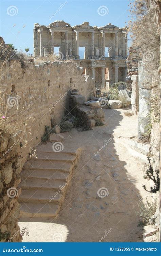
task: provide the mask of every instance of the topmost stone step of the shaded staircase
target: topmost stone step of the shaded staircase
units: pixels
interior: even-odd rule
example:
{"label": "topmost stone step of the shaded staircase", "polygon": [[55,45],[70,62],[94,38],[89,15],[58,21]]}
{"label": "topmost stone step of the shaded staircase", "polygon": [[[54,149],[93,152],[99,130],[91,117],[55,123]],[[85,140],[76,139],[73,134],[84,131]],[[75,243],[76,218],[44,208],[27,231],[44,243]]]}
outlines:
{"label": "topmost stone step of the shaded staircase", "polygon": [[55,153],[55,152],[41,152],[36,151],[29,160],[59,160],[66,162],[73,162],[76,159],[76,154]]}

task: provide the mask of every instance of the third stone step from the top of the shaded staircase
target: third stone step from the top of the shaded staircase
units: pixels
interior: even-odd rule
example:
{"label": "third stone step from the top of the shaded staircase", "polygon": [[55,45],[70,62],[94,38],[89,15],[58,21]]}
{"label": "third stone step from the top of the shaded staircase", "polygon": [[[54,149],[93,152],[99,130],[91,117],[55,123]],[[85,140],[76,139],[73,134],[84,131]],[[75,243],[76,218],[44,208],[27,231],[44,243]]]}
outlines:
{"label": "third stone step from the top of the shaded staircase", "polygon": [[[64,171],[64,172],[63,172]],[[44,179],[54,179],[54,180],[62,180],[67,181],[70,174],[69,171],[65,172],[65,170],[57,170],[57,169],[51,169],[51,170],[45,170],[45,169],[24,169],[21,173],[22,181],[26,178],[44,178]]]}

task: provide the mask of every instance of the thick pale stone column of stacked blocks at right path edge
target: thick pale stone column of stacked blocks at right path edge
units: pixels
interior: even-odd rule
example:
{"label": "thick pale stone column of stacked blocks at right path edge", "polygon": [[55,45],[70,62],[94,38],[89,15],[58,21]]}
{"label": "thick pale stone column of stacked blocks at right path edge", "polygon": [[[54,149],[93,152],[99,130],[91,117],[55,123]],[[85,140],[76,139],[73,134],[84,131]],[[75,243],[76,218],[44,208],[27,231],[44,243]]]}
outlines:
{"label": "thick pale stone column of stacked blocks at right path edge", "polygon": [[138,138],[143,139],[146,136],[151,123],[151,86],[152,77],[146,71],[144,62],[138,62],[138,87],[139,87],[139,112],[138,112]]}

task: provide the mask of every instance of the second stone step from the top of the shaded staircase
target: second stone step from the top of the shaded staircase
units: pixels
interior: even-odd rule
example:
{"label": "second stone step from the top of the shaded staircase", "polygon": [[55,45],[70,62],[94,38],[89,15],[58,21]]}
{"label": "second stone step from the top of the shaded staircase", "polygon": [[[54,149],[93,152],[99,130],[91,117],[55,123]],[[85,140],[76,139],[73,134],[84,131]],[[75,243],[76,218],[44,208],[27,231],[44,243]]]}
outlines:
{"label": "second stone step from the top of the shaded staircase", "polygon": [[67,162],[66,160],[28,160],[24,166],[24,169],[71,169],[73,164]]}

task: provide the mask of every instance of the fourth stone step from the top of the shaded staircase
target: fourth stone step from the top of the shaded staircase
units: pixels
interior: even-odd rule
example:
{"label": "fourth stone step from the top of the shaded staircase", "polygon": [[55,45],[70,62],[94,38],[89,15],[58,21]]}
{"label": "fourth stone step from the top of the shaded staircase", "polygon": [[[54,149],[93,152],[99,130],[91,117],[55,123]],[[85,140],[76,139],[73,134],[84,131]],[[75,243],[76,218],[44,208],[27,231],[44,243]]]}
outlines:
{"label": "fourth stone step from the top of the shaded staircase", "polygon": [[59,191],[63,193],[67,186],[67,183],[62,180],[54,180],[54,179],[37,179],[37,178],[27,178],[21,182],[22,189],[52,189],[55,191]]}

